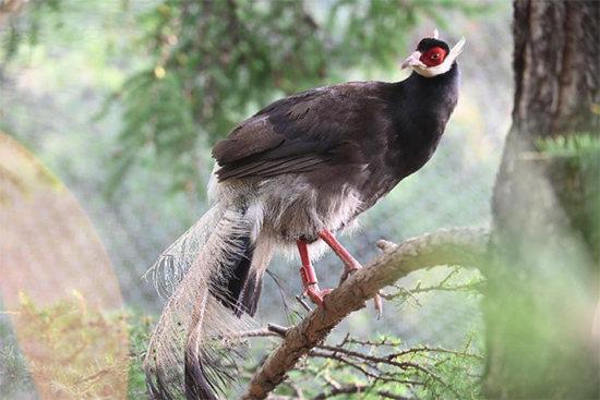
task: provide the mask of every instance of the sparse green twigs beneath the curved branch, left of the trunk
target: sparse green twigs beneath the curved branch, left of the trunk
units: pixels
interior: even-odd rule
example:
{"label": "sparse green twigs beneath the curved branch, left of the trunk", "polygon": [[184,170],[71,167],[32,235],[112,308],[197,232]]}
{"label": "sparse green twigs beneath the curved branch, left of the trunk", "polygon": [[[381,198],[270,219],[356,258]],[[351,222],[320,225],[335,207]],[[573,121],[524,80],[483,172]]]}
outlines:
{"label": "sparse green twigs beneath the curved branch, left of the trunk", "polygon": [[481,399],[483,357],[471,339],[459,351],[406,347],[399,339],[356,340],[319,346],[276,390],[283,396],[345,399]]}

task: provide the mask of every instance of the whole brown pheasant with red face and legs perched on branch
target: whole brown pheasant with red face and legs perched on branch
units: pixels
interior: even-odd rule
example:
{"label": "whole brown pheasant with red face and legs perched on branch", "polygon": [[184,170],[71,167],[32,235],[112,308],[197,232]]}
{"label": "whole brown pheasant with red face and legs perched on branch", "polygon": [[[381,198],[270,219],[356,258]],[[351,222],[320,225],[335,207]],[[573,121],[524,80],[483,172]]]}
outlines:
{"label": "whole brown pheasant with red face and legs perched on branch", "polygon": [[312,263],[331,247],[341,279],[360,268],[335,233],[430,160],[458,101],[465,41],[451,49],[435,29],[403,62],[404,81],[290,95],[214,146],[211,208],[148,270],[166,301],[145,359],[152,398],[224,393],[274,251],[298,252],[302,295],[326,311]]}

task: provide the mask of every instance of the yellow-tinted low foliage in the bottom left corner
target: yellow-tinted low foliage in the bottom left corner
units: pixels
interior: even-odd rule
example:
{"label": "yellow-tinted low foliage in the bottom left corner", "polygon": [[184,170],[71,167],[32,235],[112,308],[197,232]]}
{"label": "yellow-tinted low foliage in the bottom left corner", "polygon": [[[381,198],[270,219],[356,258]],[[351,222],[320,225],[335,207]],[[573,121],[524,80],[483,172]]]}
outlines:
{"label": "yellow-tinted low foliage in the bottom left corner", "polygon": [[[15,315],[14,338],[0,337],[2,398],[37,391],[48,398],[109,399],[124,393],[145,396],[142,356],[152,319],[140,314],[106,313],[87,306],[74,293],[73,299],[37,306],[21,294]],[[129,344],[128,344],[129,339]]]}

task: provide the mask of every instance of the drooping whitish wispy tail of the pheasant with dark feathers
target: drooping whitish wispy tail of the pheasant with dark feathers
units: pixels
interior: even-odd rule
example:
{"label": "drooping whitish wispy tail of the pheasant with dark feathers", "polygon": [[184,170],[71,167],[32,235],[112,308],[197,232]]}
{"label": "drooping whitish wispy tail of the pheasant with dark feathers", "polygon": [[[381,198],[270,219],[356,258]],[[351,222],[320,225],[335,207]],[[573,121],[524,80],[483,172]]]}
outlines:
{"label": "drooping whitish wispy tail of the pheasant with dark feathers", "polygon": [[235,380],[273,246],[260,207],[215,204],[151,268],[166,305],[145,360],[154,399],[217,399]]}

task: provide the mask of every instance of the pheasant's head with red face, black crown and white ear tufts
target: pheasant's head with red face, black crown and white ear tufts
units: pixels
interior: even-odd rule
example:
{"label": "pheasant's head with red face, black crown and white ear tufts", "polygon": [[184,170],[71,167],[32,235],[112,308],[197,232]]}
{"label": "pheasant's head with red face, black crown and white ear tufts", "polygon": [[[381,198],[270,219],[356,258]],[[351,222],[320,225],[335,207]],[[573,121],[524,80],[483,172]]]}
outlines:
{"label": "pheasant's head with red face, black crown and white ear tufts", "polygon": [[415,72],[421,76],[433,77],[451,70],[454,60],[463,51],[465,38],[461,38],[451,50],[446,43],[437,39],[437,29],[433,37],[425,37],[417,46],[417,50],[410,54],[401,69],[412,66]]}

